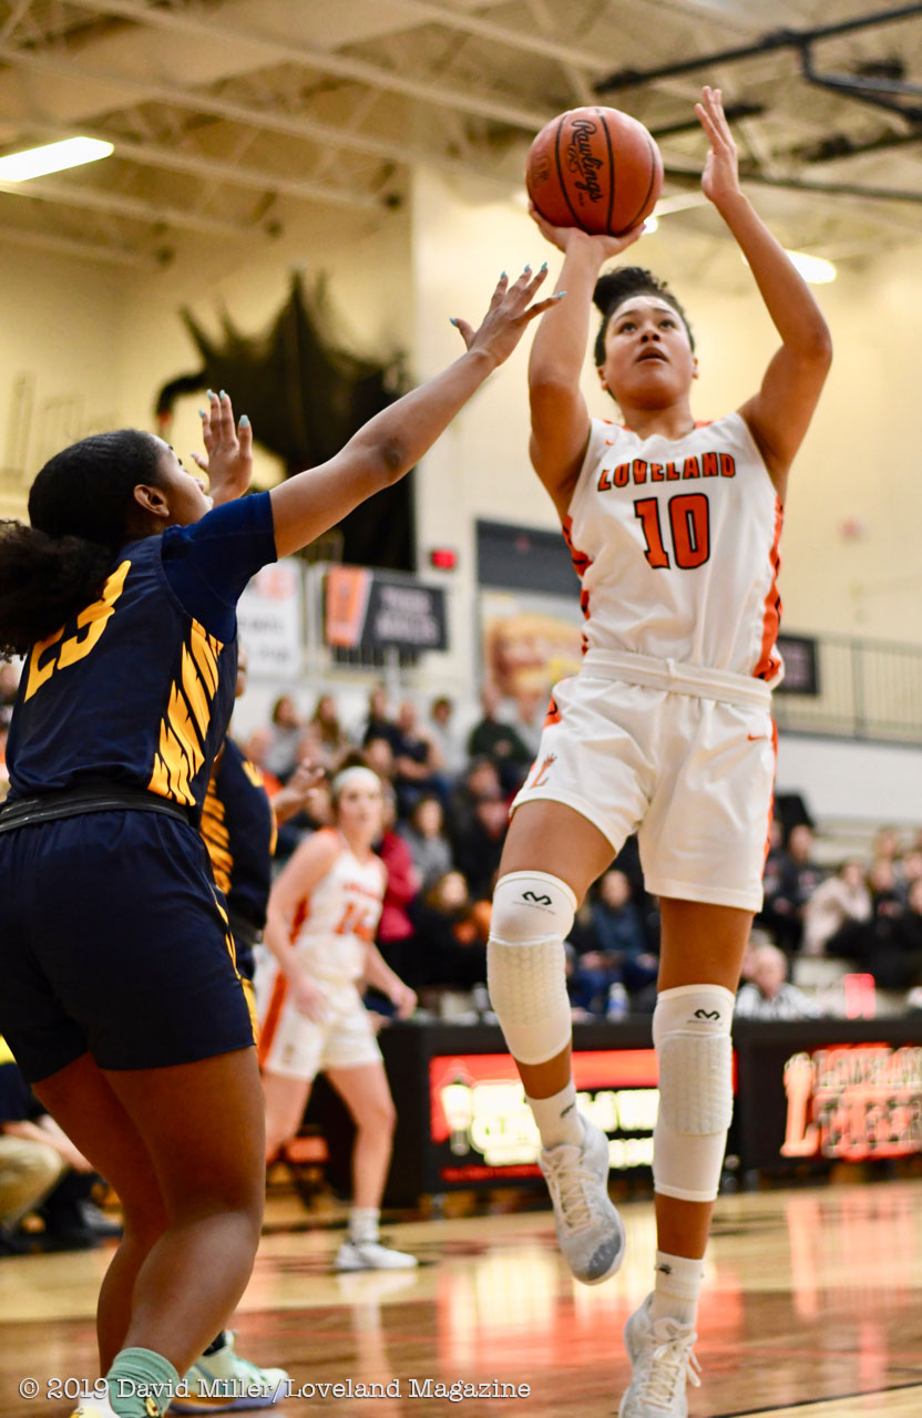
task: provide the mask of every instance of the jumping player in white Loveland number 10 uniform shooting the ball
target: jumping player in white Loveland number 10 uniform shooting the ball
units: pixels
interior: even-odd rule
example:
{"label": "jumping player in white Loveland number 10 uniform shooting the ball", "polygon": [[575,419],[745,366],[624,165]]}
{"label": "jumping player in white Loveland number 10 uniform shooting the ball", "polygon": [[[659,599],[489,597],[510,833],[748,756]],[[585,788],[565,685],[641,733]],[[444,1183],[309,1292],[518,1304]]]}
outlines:
{"label": "jumping player in white Loveland number 10 uniform shooting the ball", "polygon": [[[698,118],[705,196],[749,261],[782,346],[738,413],[698,428],[691,332],[675,298],[601,264],[640,235],[542,233],[565,252],[567,299],[536,332],[531,455],[583,579],[587,654],[555,689],[513,804],[494,898],[489,987],[542,1134],[557,1235],[579,1279],[620,1265],[604,1136],[576,1112],[563,946],[573,910],[640,831],[661,898],[654,1042],[660,1116],[655,1290],[631,1316],[623,1418],[685,1415],[695,1313],[726,1127],[729,1027],[772,794],[769,685],[780,662],[777,535],[792,459],[830,364],[826,322],[739,190],[719,89]],[[603,387],[627,428],[591,421],[579,377],[593,294]]]}

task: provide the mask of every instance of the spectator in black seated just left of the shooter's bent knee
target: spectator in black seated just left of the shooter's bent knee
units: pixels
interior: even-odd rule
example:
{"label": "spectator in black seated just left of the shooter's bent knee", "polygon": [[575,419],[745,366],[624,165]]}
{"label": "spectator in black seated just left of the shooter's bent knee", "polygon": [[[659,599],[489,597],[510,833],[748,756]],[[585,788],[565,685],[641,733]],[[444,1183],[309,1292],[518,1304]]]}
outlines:
{"label": "spectator in black seated just left of the shooter's bent knee", "polygon": [[472,900],[458,871],[431,883],[413,909],[421,984],[470,988],[487,980],[489,900]]}

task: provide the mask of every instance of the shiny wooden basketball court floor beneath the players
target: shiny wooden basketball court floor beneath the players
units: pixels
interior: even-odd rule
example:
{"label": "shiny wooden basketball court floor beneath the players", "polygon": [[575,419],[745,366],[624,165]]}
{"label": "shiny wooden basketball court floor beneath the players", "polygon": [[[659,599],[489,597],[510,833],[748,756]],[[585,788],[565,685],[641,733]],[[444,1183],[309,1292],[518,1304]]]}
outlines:
{"label": "shiny wooden basketball court floor beneath the players", "polygon": [[[565,1272],[545,1210],[394,1225],[387,1235],[420,1256],[417,1272],[336,1276],[342,1217],[318,1224],[282,1201],[238,1310],[238,1350],[284,1366],[296,1388],[352,1381],[352,1397],[305,1388],[277,1418],[614,1415],[627,1383],[620,1332],[650,1288],[654,1248],[650,1202],[623,1214],[624,1266],[587,1289]],[[71,1411],[45,1398],[45,1384],[94,1375],[106,1256],[0,1261],[3,1418]],[[691,1418],[922,1415],[921,1300],[922,1180],[721,1198]],[[40,1397],[20,1397],[24,1378],[38,1380]],[[440,1395],[440,1383],[458,1380],[484,1395]],[[494,1381],[528,1395],[492,1397]],[[363,1383],[389,1392],[359,1397]]]}

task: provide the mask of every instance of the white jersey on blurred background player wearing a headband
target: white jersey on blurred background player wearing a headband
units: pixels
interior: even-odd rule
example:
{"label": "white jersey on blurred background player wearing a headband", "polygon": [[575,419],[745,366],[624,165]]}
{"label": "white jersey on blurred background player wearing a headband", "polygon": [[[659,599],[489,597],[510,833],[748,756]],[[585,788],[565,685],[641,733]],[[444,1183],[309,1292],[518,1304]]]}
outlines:
{"label": "white jersey on blurred background player wearing a headband", "polygon": [[298,956],[316,980],[343,983],[365,971],[365,947],[374,940],[387,869],[380,856],[360,862],[345,838],[336,861],[295,912],[291,939]]}

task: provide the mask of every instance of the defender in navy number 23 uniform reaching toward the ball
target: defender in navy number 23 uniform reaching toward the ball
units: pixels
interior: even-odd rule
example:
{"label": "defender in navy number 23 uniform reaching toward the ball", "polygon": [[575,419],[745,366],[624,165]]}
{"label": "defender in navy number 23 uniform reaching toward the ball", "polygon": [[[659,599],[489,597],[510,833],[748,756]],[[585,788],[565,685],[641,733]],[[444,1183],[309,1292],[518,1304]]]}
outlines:
{"label": "defender in navy number 23 uniform reaching toward the ball", "polygon": [[0,1032],[125,1218],[98,1309],[106,1383],[81,1418],[156,1418],[193,1361],[230,1375],[221,1407],[245,1398],[233,1356],[196,1360],[243,1293],[264,1201],[250,1012],[194,825],[237,597],[420,461],[553,303],[531,303],[542,279],[504,275],[479,329],[455,322],[461,359],[271,493],[235,501],[250,425],[211,396],[214,510],[165,442],[122,430],[45,464],[31,527],[0,525],[0,655],[28,657],[0,813]]}

